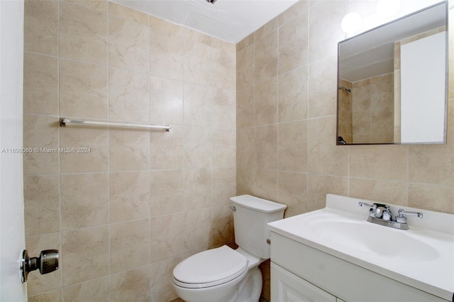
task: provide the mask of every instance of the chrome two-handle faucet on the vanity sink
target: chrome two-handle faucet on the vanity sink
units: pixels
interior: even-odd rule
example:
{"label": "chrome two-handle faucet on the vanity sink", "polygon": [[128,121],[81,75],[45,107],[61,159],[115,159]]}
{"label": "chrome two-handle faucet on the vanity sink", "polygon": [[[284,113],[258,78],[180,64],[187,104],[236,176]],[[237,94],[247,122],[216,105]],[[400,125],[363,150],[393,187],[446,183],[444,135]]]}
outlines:
{"label": "chrome two-handle faucet on the vanity sink", "polygon": [[415,215],[419,218],[423,218],[423,213],[421,212],[413,212],[413,211],[405,211],[404,209],[399,209],[399,216],[393,216],[391,212],[391,208],[387,204],[383,203],[374,203],[369,204],[363,201],[358,203],[358,206],[368,206],[369,208],[369,218],[367,221],[370,223],[377,223],[378,225],[384,225],[390,228],[397,228],[399,230],[408,230],[409,225],[406,223],[407,219],[406,215]]}

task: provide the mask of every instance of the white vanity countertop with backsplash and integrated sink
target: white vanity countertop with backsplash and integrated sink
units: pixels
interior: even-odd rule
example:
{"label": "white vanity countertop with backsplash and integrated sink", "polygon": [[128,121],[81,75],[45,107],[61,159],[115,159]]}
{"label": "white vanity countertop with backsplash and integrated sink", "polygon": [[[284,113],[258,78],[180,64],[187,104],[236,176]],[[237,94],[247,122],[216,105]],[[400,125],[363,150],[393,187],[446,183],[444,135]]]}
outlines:
{"label": "white vanity countertop with backsplash and integrated sink", "polygon": [[[328,194],[326,208],[268,223],[268,228],[304,245],[452,301],[454,293],[454,215],[421,211],[408,216],[409,230],[367,222],[364,199]],[[366,201],[374,203],[374,201]]]}

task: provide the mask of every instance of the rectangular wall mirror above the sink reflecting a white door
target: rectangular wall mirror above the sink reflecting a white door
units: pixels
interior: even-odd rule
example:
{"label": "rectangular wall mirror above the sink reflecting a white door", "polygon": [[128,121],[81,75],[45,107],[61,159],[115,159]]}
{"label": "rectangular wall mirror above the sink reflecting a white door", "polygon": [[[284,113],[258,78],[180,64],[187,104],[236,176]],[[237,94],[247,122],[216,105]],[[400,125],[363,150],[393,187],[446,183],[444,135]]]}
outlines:
{"label": "rectangular wall mirror above the sink reflecting a white door", "polygon": [[446,142],[448,3],[338,43],[338,145]]}

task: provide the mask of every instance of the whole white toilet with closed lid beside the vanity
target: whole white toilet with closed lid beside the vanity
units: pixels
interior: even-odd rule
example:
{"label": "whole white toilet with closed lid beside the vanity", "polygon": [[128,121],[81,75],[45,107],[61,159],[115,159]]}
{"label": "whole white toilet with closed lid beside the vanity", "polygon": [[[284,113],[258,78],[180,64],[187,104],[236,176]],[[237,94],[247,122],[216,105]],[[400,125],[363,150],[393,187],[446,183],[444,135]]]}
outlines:
{"label": "whole white toilet with closed lid beside the vanity", "polygon": [[250,195],[232,197],[238,249],[227,245],[199,252],[173,270],[172,284],[187,302],[257,302],[262,291],[259,264],[270,258],[267,223],[284,217],[284,204]]}

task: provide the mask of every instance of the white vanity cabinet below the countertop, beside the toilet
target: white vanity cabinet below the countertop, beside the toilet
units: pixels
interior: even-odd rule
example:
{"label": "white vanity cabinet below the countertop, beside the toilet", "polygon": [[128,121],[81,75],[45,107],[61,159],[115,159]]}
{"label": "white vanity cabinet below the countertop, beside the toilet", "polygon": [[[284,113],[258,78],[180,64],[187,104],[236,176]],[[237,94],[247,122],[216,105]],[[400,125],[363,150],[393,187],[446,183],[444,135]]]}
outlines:
{"label": "white vanity cabinet below the countertop, beside the toilet", "polygon": [[271,242],[272,302],[447,301],[283,235]]}

